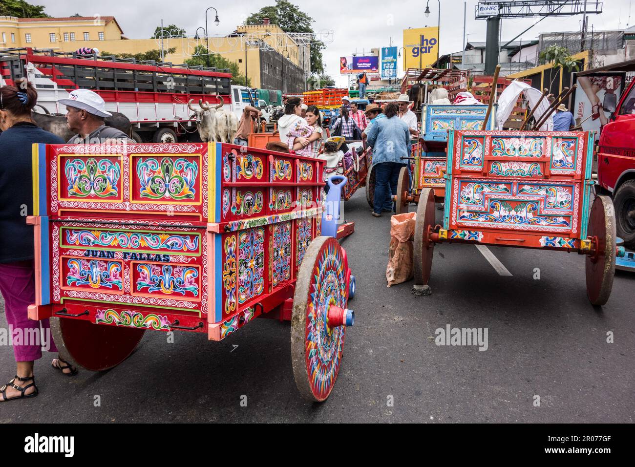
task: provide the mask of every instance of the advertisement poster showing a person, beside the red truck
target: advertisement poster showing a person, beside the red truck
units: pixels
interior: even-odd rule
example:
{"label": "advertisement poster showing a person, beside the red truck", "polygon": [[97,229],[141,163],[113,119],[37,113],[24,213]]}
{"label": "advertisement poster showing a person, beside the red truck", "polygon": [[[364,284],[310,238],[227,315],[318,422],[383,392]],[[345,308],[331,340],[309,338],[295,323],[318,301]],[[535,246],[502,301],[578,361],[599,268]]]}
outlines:
{"label": "advertisement poster showing a person, beside the red truck", "polygon": [[582,122],[582,130],[595,131],[599,139],[599,130],[608,123],[608,119],[624,92],[625,72],[597,72],[578,76],[573,73],[573,83],[577,83],[569,111],[576,123]]}

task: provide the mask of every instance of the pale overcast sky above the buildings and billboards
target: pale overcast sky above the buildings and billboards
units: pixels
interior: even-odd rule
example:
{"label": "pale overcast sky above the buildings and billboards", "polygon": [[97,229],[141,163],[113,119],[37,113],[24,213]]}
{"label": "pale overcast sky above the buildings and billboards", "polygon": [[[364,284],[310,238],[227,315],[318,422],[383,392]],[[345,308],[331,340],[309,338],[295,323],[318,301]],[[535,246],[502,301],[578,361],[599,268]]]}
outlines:
{"label": "pale overcast sky above the buildings and billboards", "polygon": [[[430,0],[431,15],[424,15],[426,0],[291,0],[307,15],[314,18],[314,29],[332,30],[332,41],[326,45],[324,63],[326,72],[336,79],[338,85],[345,85],[346,78],[339,74],[339,57],[354,52],[370,51],[392,44],[402,46],[403,29],[408,27],[436,26],[438,3]],[[588,0],[589,4],[595,3]],[[263,6],[272,5],[275,0],[239,0],[229,2],[203,0],[110,0],[87,6],[86,0],[37,0],[43,4],[46,13],[55,17],[66,17],[79,13],[84,16],[100,14],[114,16],[130,39],[152,36],[161,19],[167,24],[176,24],[193,36],[196,28],[205,25],[204,11],[209,6],[218,10],[220,25],[215,26],[214,12],[210,10],[208,29],[210,36],[229,34],[251,13]],[[464,0],[440,0],[441,38],[440,53],[462,50],[463,5]],[[470,41],[485,41],[485,20],[475,20],[474,10],[477,0],[467,1],[466,34]],[[604,0],[603,13],[589,17],[589,29],[618,29],[635,22],[633,0]],[[392,15],[390,17],[389,15]],[[540,32],[580,30],[582,15],[575,17],[547,18],[521,36],[523,40],[537,38]],[[509,40],[529,27],[533,18],[502,20],[502,39]],[[401,61],[399,72],[401,72]]]}

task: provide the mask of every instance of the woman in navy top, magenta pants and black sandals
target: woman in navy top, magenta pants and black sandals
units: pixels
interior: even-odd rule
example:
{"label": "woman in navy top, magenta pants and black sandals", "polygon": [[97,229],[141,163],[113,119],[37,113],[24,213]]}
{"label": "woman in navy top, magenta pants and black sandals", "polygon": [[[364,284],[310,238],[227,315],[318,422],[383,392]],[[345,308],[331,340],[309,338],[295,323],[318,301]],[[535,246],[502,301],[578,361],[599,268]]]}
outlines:
{"label": "woman in navy top, magenta pants and black sandals", "polygon": [[[35,303],[33,228],[26,224],[27,213],[33,213],[32,144],[64,143],[32,123],[36,102],[37,92],[26,79],[0,88],[0,292],[17,362],[15,377],[0,388],[0,402],[36,396],[33,362],[42,357],[42,348],[57,352],[48,320],[32,321],[27,313]],[[52,364],[66,375],[77,373],[59,356]]]}

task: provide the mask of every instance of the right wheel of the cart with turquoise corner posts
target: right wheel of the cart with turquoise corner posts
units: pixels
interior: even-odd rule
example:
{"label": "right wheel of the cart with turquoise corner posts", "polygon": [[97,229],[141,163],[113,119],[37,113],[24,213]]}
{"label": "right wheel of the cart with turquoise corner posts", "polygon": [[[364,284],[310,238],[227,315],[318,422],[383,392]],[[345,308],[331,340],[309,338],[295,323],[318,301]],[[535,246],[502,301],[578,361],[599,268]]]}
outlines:
{"label": "right wheel of the cart with turquoise corner posts", "polygon": [[594,305],[608,301],[615,276],[615,210],[608,196],[598,196],[591,206],[588,236],[597,239],[596,252],[586,257],[587,295]]}

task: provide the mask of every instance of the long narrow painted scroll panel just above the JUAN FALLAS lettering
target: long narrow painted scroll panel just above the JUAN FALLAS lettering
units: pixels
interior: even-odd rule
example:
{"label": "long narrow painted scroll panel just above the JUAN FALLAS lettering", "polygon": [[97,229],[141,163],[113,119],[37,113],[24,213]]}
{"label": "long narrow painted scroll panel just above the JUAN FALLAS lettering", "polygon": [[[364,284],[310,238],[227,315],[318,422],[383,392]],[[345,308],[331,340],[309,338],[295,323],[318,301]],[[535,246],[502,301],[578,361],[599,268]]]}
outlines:
{"label": "long narrow painted scroll panel just above the JUAN FALLAS lettering", "polygon": [[197,252],[199,235],[65,229],[66,245]]}

